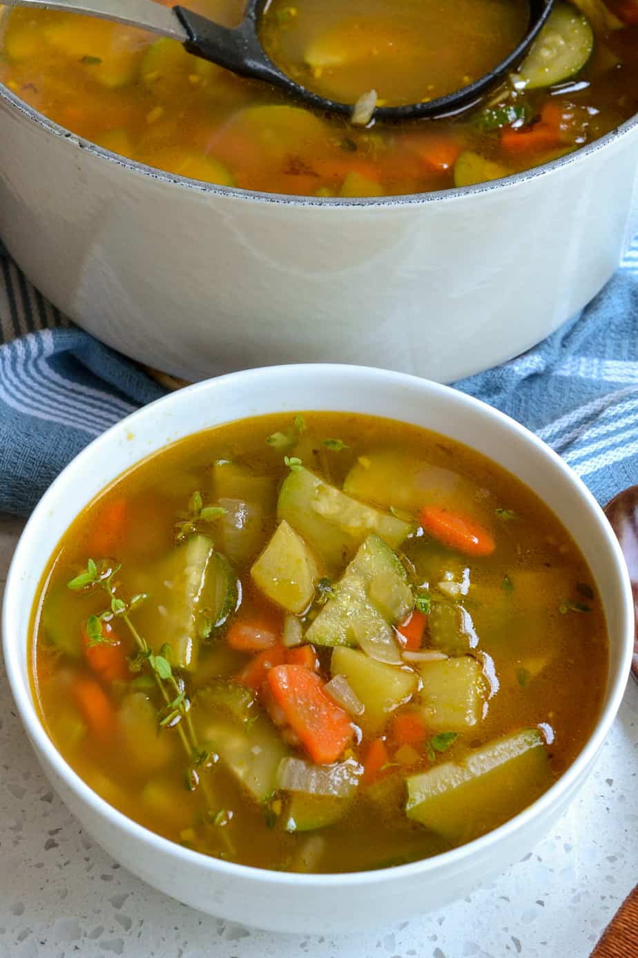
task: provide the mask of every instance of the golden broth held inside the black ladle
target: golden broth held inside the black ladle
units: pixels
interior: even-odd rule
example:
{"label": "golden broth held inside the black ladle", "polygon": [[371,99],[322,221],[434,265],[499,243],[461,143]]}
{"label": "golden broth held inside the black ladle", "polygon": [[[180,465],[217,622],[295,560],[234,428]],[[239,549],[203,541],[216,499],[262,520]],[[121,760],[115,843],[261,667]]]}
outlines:
{"label": "golden broth held inside the black ladle", "polygon": [[420,103],[489,73],[527,29],[525,0],[273,0],[262,39],[270,57],[321,96]]}

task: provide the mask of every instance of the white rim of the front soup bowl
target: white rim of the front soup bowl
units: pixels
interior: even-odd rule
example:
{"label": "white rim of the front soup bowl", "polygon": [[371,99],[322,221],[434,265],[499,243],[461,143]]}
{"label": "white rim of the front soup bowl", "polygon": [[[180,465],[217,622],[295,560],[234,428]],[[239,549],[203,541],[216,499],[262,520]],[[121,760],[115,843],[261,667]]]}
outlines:
{"label": "white rim of the front soup bowl", "polygon": [[[77,772],[74,771],[70,764],[67,764],[61,753],[55,747],[54,742],[49,737],[44,724],[38,716],[37,709],[33,701],[31,684],[29,680],[27,679],[27,682],[25,683],[23,682],[21,676],[20,661],[23,642],[25,638],[27,642],[29,642],[30,639],[29,636],[25,637],[24,634],[21,634],[21,630],[17,622],[17,611],[15,611],[18,607],[20,593],[23,589],[22,554],[28,550],[30,539],[37,539],[40,525],[47,522],[55,500],[59,498],[60,495],[64,494],[64,490],[69,480],[73,480],[74,482],[77,481],[77,474],[81,474],[85,469],[90,469],[92,461],[103,456],[102,450],[106,450],[109,445],[117,443],[119,438],[124,438],[127,433],[139,433],[141,430],[143,430],[145,422],[152,421],[154,418],[156,418],[159,410],[162,412],[168,412],[171,406],[177,405],[179,403],[185,403],[186,405],[197,404],[200,398],[205,398],[209,391],[214,392],[216,389],[221,389],[224,391],[232,390],[234,388],[235,390],[242,389],[250,392],[253,385],[256,385],[257,383],[260,387],[260,395],[263,396],[264,377],[271,377],[275,380],[280,380],[283,378],[285,381],[286,376],[291,376],[294,378],[295,376],[298,376],[299,373],[305,377],[323,376],[325,377],[326,384],[329,383],[331,377],[339,376],[342,379],[343,376],[348,376],[352,379],[353,390],[356,389],[358,385],[366,383],[374,383],[375,388],[380,390],[385,386],[390,388],[392,386],[400,386],[406,391],[409,390],[412,392],[415,390],[420,390],[422,391],[423,398],[427,398],[429,400],[435,398],[444,403],[450,401],[451,403],[456,404],[459,410],[462,410],[463,408],[470,409],[474,415],[483,416],[487,420],[492,420],[492,422],[495,422],[498,427],[502,427],[506,432],[514,432],[527,445],[532,446],[532,448],[535,450],[535,455],[539,455],[540,458],[543,458],[546,461],[548,468],[557,469],[562,473],[563,477],[571,485],[574,493],[580,497],[583,508],[587,509],[589,513],[593,514],[597,521],[600,535],[602,536],[602,539],[605,540],[605,544],[609,549],[610,557],[614,564],[614,573],[619,585],[621,586],[622,604],[621,608],[619,609],[619,635],[622,633],[621,641],[624,642],[624,649],[618,659],[616,674],[615,676],[611,676],[611,686],[608,700],[601,711],[592,734],[585,742],[583,749],[573,763],[570,764],[569,767],[561,774],[554,785],[544,792],[535,802],[527,806],[526,809],[520,811],[517,815],[509,819],[492,832],[481,835],[465,845],[461,845],[458,848],[441,853],[440,855],[434,855],[429,858],[423,858],[417,861],[409,862],[407,864],[395,865],[385,869],[373,869],[363,872],[320,873],[316,875],[301,875],[297,874],[296,872],[279,872],[271,869],[256,868],[252,865],[242,865],[234,862],[228,862],[220,858],[204,855],[203,853],[192,851],[181,845],[178,845],[176,842],[173,842],[162,835],[158,835],[157,833],[146,829],[134,819],[129,818],[123,812],[109,805],[108,802],[101,798],[97,792],[89,787],[77,775]],[[260,402],[263,403],[266,408],[253,415],[268,414],[269,402],[267,400],[264,402],[263,399],[261,399]],[[291,406],[291,409],[294,409],[294,407]],[[343,411],[347,412],[348,410],[345,409]],[[238,421],[230,420],[228,422]],[[404,422],[408,422],[408,420],[405,420]],[[218,425],[223,424],[224,422],[218,423]],[[215,428],[215,426],[211,426],[211,428]],[[201,430],[194,431],[197,432]],[[142,450],[140,450],[142,454],[139,456],[136,455],[134,463],[122,469],[122,472],[118,473],[118,475],[121,475],[124,471],[127,471],[130,468],[135,468],[148,456],[155,455],[159,449],[165,448],[167,445],[173,445],[173,443],[179,442],[188,435],[192,435],[192,433],[184,432],[184,434],[178,439],[172,439],[169,443],[161,443],[149,452],[142,452]],[[115,480],[109,480],[106,485],[110,485],[113,481]],[[560,515],[558,517],[560,519]],[[54,550],[52,550],[52,554],[53,551],[55,551],[55,547]],[[45,561],[42,563],[42,568],[39,570],[35,588],[37,588],[41,582],[44,568],[49,559],[50,556],[47,555],[45,557]],[[611,526],[608,524],[605,518],[605,513],[603,513],[603,510],[594,499],[592,493],[586,488],[583,481],[576,475],[576,473],[574,473],[566,465],[566,463],[561,460],[561,457],[554,452],[553,449],[544,444],[538,438],[538,436],[526,429],[516,420],[506,416],[504,413],[501,413],[499,410],[488,405],[482,400],[475,399],[472,396],[461,393],[455,389],[452,389],[450,386],[432,382],[428,379],[423,379],[418,376],[411,376],[406,373],[380,370],[375,367],[354,366],[338,363],[298,363],[284,366],[270,366],[259,369],[243,370],[240,372],[229,373],[225,376],[217,376],[214,378],[205,379],[201,382],[194,383],[191,386],[187,386],[185,389],[182,389],[176,393],[169,394],[161,399],[156,399],[154,402],[148,403],[136,412],[126,416],[120,422],[117,422],[115,425],[111,426],[108,430],[102,433],[89,445],[85,446],[85,448],[77,454],[75,459],[73,459],[71,463],[69,463],[69,465],[59,473],[53,484],[44,493],[36,505],[22,532],[22,535],[18,540],[18,544],[11,559],[11,566],[7,576],[5,596],[2,607],[2,644],[4,660],[11,686],[11,692],[15,700],[20,719],[22,720],[23,726],[27,731],[28,737],[33,743],[36,754],[38,752],[43,753],[48,764],[53,767],[55,773],[64,782],[66,787],[68,787],[72,792],[75,792],[77,798],[84,805],[88,805],[91,810],[99,816],[99,818],[109,822],[113,828],[120,830],[122,837],[125,837],[128,834],[146,846],[152,846],[154,849],[164,853],[165,855],[174,856],[182,863],[191,864],[200,869],[204,869],[207,872],[211,872],[213,874],[216,873],[221,877],[228,876],[229,878],[244,878],[262,883],[275,883],[281,887],[293,884],[297,885],[300,883],[306,887],[317,889],[326,886],[334,888],[336,885],[339,885],[344,889],[349,887],[362,887],[379,881],[383,882],[394,875],[396,875],[397,878],[416,878],[417,876],[426,876],[429,873],[435,873],[439,867],[453,867],[454,865],[463,862],[466,858],[473,855],[480,856],[482,853],[489,854],[490,850],[499,845],[502,840],[506,839],[507,837],[514,837],[516,833],[522,831],[527,825],[532,824],[535,819],[542,818],[543,813],[550,810],[551,807],[556,803],[559,803],[561,797],[566,795],[568,796],[573,792],[574,788],[582,779],[585,769],[592,763],[594,757],[598,753],[599,748],[602,746],[611,723],[615,719],[618,709],[620,708],[620,704],[625,693],[631,664],[631,655],[633,651],[633,637],[633,597],[627,574],[627,566],[625,564],[620,545],[611,529]]]}

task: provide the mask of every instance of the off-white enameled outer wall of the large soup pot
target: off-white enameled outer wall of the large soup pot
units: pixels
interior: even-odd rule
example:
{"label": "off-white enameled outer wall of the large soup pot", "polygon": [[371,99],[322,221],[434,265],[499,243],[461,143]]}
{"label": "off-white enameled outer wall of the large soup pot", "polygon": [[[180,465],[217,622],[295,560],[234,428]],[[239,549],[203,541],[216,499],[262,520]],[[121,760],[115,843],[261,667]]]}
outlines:
{"label": "off-white enameled outer wall of the large soup pot", "polygon": [[615,269],[637,166],[633,121],[455,193],[248,194],[118,160],[0,87],[12,256],[84,329],[191,379],[317,360],[451,381],[518,354]]}

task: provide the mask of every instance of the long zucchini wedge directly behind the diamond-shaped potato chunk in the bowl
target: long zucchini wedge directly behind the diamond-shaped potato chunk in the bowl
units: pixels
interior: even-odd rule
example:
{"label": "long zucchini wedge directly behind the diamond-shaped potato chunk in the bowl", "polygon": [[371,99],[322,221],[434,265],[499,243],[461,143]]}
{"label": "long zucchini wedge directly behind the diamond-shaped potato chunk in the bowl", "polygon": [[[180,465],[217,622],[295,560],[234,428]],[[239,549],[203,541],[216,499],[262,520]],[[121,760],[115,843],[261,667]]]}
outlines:
{"label": "long zucchini wedge directly behind the diamond-shaped potato chunk in the bowl", "polygon": [[306,468],[292,471],[284,480],[277,516],[303,536],[331,574],[341,569],[370,533],[396,549],[409,532],[403,519],[351,499]]}

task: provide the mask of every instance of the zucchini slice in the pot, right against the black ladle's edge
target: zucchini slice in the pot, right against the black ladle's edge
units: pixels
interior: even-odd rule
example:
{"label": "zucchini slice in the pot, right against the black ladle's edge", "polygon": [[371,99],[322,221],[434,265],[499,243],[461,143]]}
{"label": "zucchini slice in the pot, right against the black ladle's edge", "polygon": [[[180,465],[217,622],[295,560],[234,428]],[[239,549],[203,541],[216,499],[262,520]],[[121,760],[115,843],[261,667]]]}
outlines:
{"label": "zucchini slice in the pot, right against the black ladle's edge", "polygon": [[517,73],[526,90],[569,80],[580,73],[594,49],[594,32],[583,13],[557,3]]}

